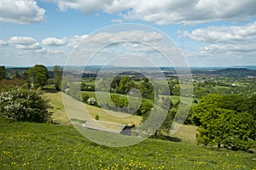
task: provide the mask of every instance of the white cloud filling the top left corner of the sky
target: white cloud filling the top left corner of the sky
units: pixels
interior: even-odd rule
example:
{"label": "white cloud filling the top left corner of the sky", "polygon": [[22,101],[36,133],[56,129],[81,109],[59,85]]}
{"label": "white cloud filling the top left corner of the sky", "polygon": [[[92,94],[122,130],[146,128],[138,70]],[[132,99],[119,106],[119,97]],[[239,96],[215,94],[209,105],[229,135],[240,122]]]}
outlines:
{"label": "white cloud filling the top left corner of the sky", "polygon": [[44,19],[44,8],[35,0],[0,0],[0,21],[17,24],[40,22]]}

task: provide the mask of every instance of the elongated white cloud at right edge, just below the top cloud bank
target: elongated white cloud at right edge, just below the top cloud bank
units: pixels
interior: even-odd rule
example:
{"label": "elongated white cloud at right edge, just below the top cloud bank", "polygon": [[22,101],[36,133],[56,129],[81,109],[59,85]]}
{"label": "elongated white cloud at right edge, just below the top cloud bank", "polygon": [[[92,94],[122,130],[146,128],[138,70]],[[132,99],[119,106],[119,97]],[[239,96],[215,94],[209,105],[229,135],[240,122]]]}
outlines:
{"label": "elongated white cloud at right edge, just below the top cloud bank", "polygon": [[[209,26],[194,31],[184,31],[183,35],[200,42],[255,42],[256,22],[246,26]],[[256,45],[256,44],[255,44]]]}

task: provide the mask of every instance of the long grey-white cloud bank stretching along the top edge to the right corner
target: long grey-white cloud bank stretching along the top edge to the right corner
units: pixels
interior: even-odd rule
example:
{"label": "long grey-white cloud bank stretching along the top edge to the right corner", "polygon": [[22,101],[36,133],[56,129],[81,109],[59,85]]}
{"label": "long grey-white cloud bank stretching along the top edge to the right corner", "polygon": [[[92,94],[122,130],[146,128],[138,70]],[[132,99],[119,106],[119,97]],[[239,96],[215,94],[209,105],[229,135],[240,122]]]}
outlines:
{"label": "long grey-white cloud bank stretching along the top edge to the right corner", "polygon": [[124,20],[145,20],[158,25],[198,24],[215,20],[246,20],[256,14],[255,0],[44,0],[61,10],[73,8],[84,14],[103,11]]}

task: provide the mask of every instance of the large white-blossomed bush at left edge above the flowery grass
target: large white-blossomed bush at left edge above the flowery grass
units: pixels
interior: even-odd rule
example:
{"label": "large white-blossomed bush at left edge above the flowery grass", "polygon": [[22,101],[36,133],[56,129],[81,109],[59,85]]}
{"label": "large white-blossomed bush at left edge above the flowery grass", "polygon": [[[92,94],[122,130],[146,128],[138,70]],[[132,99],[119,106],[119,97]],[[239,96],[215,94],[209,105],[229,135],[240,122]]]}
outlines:
{"label": "large white-blossomed bush at left edge above the flowery grass", "polygon": [[48,122],[49,100],[40,91],[26,88],[5,88],[0,94],[0,115],[19,122]]}

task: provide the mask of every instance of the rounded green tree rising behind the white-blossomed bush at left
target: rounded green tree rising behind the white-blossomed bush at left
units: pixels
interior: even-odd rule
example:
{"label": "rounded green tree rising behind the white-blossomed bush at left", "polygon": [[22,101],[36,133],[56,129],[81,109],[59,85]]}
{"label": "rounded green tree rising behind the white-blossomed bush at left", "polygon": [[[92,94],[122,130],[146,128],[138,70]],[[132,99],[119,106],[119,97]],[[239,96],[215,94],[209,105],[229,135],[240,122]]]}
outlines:
{"label": "rounded green tree rising behind the white-blossomed bush at left", "polygon": [[48,70],[44,65],[35,65],[28,69],[28,82],[32,88],[44,87],[48,78]]}

